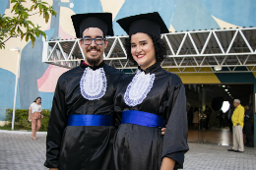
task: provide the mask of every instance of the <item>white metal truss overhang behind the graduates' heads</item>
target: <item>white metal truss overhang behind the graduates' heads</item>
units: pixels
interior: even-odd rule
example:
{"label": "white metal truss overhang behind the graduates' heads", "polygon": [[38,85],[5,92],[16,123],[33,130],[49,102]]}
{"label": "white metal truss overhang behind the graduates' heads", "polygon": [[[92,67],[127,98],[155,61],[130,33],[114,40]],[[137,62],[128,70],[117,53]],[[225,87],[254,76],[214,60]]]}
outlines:
{"label": "white metal truss overhang behind the graduates' heads", "polygon": [[[110,36],[104,62],[134,73],[137,66],[127,60],[124,39]],[[256,72],[256,28],[229,28],[170,32],[161,35],[167,56],[161,67],[173,73]],[[79,39],[43,42],[42,62],[65,68],[77,67],[85,56]],[[217,71],[218,68],[222,69]]]}

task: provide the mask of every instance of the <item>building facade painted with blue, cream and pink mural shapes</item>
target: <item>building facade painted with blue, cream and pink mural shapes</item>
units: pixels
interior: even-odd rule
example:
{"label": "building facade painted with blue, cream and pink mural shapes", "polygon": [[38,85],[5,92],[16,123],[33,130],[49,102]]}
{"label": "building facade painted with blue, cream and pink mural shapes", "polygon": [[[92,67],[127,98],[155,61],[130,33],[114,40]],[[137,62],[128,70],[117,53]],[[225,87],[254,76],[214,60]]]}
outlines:
{"label": "building facade painted with blue, cream and pink mural shapes", "polygon": [[[31,17],[34,24],[45,30],[47,39],[75,38],[71,16],[80,13],[111,12],[115,35],[126,33],[116,21],[123,17],[141,13],[159,12],[171,32],[186,30],[205,30],[223,28],[256,27],[255,0],[45,0],[52,4],[57,17],[51,17],[48,24],[38,15]],[[10,0],[0,2],[0,14],[11,16],[13,4]],[[31,2],[28,0],[28,5]],[[255,44],[253,50],[255,50]],[[0,121],[5,120],[5,110],[13,108],[17,69],[17,53],[9,51],[12,47],[21,48],[21,64],[16,108],[28,109],[32,101],[40,96],[42,107],[51,108],[55,85],[59,76],[68,69],[42,62],[43,38],[36,37],[32,42],[11,38],[6,48],[0,50]],[[169,69],[175,72],[177,68]],[[207,73],[211,68],[203,68],[201,73],[186,71],[177,73],[184,84],[254,84],[256,72],[246,73]],[[205,71],[205,72],[203,72]],[[254,68],[251,70],[254,71]]]}

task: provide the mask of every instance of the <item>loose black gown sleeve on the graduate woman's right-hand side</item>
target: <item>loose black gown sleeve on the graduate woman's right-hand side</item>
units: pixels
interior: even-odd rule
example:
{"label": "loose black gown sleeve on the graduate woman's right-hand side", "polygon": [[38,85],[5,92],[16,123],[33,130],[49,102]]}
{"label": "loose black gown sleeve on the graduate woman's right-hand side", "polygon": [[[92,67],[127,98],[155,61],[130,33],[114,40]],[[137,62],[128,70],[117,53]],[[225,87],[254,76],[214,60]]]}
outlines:
{"label": "loose black gown sleeve on the graduate woman's right-hand side", "polygon": [[[174,168],[182,168],[187,144],[187,113],[185,87],[176,76],[175,85],[169,83],[168,100],[165,107],[167,124],[162,143],[162,158],[169,157],[176,161]],[[171,85],[172,84],[172,85]],[[174,90],[174,92],[173,92]]]}

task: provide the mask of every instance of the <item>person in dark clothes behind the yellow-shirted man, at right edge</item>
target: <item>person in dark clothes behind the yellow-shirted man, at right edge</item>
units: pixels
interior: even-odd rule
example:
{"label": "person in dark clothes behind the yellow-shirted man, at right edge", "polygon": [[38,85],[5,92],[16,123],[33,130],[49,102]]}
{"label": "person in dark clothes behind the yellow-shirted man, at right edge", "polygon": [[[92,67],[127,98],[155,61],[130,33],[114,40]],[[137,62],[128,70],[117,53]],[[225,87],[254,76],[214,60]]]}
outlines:
{"label": "person in dark clothes behind the yellow-shirted man, at right edge", "polygon": [[246,142],[245,146],[253,147],[252,135],[251,135],[251,128],[252,128],[252,110],[251,110],[251,103],[246,104],[246,112],[244,116],[244,131],[246,135]]}

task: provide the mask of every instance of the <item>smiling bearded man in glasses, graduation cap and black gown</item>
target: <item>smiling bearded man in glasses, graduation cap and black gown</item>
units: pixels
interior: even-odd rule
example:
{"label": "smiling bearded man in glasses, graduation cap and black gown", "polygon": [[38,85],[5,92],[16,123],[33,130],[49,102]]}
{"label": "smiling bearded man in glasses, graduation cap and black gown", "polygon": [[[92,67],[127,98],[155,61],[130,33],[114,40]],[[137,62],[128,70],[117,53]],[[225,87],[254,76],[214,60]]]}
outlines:
{"label": "smiling bearded man in glasses, graduation cap and black gown", "polygon": [[112,15],[71,18],[85,61],[64,73],[56,85],[44,165],[50,170],[108,170],[116,133],[113,97],[124,76],[103,62],[105,35],[113,35]]}

